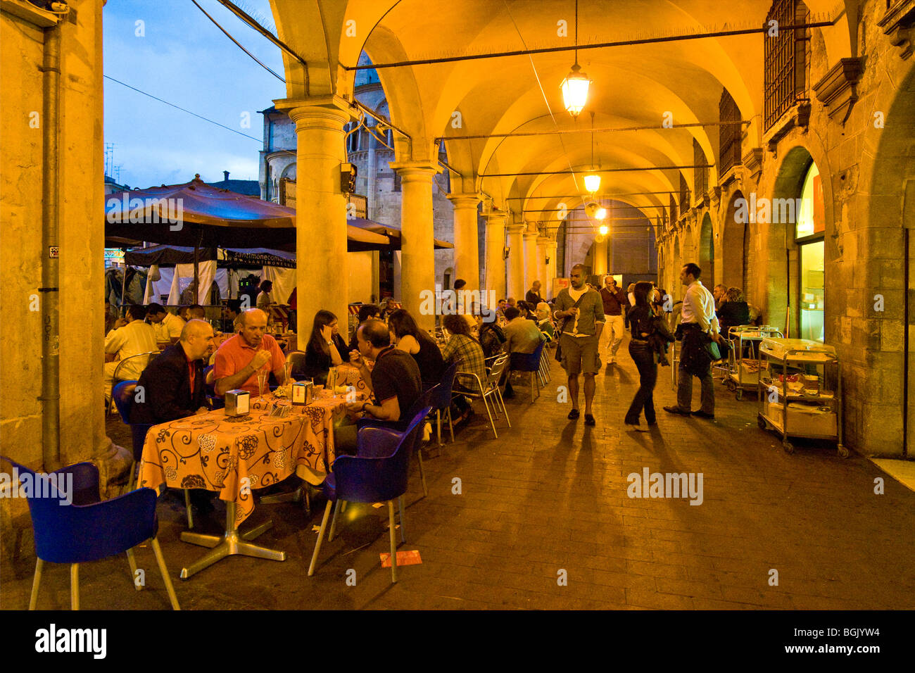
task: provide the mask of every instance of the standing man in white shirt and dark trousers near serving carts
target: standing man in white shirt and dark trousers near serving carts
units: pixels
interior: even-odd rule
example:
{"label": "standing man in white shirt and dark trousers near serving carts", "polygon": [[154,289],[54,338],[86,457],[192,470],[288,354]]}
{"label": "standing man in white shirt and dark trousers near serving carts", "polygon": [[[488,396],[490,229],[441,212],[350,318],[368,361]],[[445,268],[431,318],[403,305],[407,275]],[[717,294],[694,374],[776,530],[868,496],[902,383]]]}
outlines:
{"label": "standing man in white shirt and dark trousers near serving carts", "polygon": [[[715,418],[715,387],[712,380],[712,369],[707,364],[705,343],[721,342],[718,334],[718,318],[715,314],[715,298],[699,280],[702,269],[692,262],[684,265],[680,271],[680,281],[686,286],[683,306],[681,307],[681,325],[683,327],[683,346],[680,357],[680,371],[677,380],[677,404],[675,407],[664,407],[664,411],[681,416],[698,416]],[[696,355],[699,357],[696,358]],[[706,363],[705,366],[696,364]],[[702,384],[702,408],[693,411],[693,376]]]}

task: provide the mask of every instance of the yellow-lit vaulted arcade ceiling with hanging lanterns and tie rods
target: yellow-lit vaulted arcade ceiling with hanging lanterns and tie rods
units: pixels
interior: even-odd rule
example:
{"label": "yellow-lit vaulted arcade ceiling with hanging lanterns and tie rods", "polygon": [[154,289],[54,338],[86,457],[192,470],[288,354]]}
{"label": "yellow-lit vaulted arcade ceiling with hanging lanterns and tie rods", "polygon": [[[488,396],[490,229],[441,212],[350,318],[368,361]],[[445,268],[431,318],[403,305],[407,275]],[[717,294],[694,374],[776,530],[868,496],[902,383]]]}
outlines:
{"label": "yellow-lit vaulted arcade ceiling with hanging lanterns and tie rods", "polygon": [[[361,51],[383,66],[415,60],[575,44],[574,0],[271,0],[280,38],[306,65],[286,58],[290,98],[336,93],[351,97],[353,71]],[[856,2],[847,0],[848,12]],[[762,27],[770,0],[579,0],[578,44],[678,36]],[[845,5],[807,0],[816,17],[835,19],[819,38],[830,63],[852,55]],[[854,18],[854,17],[852,17]],[[565,22],[566,35],[559,35]],[[558,225],[552,209],[574,208],[591,167],[589,133],[488,137],[491,134],[554,132],[594,127],[651,126],[648,130],[598,133],[595,163],[601,168],[651,168],[603,174],[601,193],[679,190],[679,171],[662,166],[694,164],[693,141],[707,163],[716,164],[718,127],[662,128],[717,122],[723,90],[733,97],[751,147],[759,145],[763,103],[762,33],[684,39],[651,44],[581,49],[577,59],[593,80],[587,106],[577,121],[565,111],[560,82],[574,60],[572,51],[520,54],[479,60],[417,63],[379,68],[392,122],[410,134],[398,141],[399,159],[432,159],[434,142],[446,138],[455,191],[490,194],[504,207],[511,198],[526,219]],[[455,113],[460,114],[456,127]],[[459,136],[484,136],[472,140]],[[556,175],[486,177],[493,173],[575,172]],[[684,169],[692,187],[693,170]],[[709,171],[716,184],[716,168]],[[547,198],[535,198],[547,197]],[[662,194],[619,197],[636,206],[667,205]],[[544,212],[540,212],[544,209]],[[653,216],[657,210],[646,210]]]}

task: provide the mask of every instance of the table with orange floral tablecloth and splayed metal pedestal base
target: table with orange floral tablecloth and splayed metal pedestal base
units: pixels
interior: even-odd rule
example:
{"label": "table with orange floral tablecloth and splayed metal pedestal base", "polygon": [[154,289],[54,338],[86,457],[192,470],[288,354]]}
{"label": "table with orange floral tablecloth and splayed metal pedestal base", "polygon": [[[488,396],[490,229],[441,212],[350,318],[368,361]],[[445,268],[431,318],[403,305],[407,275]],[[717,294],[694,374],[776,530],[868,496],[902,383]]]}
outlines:
{"label": "table with orange floral tablecloth and splayed metal pedestal base", "polygon": [[181,570],[182,580],[234,554],[285,560],[285,552],[251,543],[273,521],[243,534],[238,526],[253,512],[252,489],[279,483],[293,472],[320,483],[334,461],[333,423],[345,415],[346,397],[319,397],[307,407],[295,407],[285,418],[268,415],[274,401],[273,396],[254,398],[251,412],[243,417],[226,417],[225,409],[217,409],[149,429],[139,486],[203,488],[226,501],[223,536],[181,533],[183,541],[211,548]]}

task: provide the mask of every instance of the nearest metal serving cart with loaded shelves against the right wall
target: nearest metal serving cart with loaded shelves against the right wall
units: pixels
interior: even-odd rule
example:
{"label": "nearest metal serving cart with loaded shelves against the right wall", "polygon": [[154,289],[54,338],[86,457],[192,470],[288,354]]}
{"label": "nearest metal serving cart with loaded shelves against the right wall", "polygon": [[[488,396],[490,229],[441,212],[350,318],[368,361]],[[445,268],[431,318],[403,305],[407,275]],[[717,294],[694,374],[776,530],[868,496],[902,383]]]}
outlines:
{"label": "nearest metal serving cart with loaded shelves against the right wall", "polygon": [[842,372],[833,346],[809,339],[765,338],[759,355],[768,376],[759,373],[759,428],[781,434],[781,446],[794,452],[789,437],[835,440],[843,458]]}

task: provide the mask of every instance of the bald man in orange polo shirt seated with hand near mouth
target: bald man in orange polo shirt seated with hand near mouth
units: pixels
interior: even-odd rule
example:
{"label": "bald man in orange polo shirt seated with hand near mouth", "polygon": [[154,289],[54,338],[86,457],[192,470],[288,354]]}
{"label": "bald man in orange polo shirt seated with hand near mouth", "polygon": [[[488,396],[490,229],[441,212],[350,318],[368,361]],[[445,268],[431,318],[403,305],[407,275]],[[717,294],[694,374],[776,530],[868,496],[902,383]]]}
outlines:
{"label": "bald man in orange polo shirt seated with hand near mouth", "polygon": [[222,342],[216,352],[213,367],[216,395],[241,388],[258,395],[258,372],[273,372],[280,385],[285,385],[283,364],[285,356],[267,331],[267,314],[261,309],[248,309],[242,313],[238,334]]}

